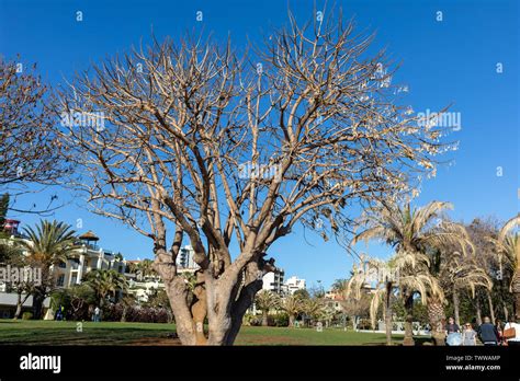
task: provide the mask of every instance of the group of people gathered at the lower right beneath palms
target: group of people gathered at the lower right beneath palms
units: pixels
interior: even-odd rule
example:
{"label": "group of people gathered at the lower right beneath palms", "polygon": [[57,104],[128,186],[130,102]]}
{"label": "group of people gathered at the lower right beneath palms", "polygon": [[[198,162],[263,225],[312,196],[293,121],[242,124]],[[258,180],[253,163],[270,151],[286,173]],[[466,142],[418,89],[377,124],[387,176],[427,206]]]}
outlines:
{"label": "group of people gathered at the lower right beneath palms", "polygon": [[477,338],[486,346],[520,345],[520,324],[512,319],[502,325],[499,320],[493,324],[491,320],[485,316],[476,330],[471,323],[465,323],[461,330],[455,320],[450,318],[445,326],[445,334],[446,344],[451,346],[477,345]]}

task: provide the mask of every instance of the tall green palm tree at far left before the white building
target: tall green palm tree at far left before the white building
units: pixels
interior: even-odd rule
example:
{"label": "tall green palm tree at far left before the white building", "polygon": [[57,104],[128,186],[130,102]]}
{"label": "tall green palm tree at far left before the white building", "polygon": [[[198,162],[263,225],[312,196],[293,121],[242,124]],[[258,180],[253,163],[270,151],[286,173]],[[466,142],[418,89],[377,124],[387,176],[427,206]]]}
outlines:
{"label": "tall green palm tree at far left before the white building", "polygon": [[75,231],[70,226],[57,221],[39,221],[36,230],[24,229],[27,240],[20,240],[20,246],[25,250],[27,261],[42,268],[42,285],[34,287],[34,316],[42,315],[43,301],[55,286],[52,267],[66,262],[70,254],[78,249]]}

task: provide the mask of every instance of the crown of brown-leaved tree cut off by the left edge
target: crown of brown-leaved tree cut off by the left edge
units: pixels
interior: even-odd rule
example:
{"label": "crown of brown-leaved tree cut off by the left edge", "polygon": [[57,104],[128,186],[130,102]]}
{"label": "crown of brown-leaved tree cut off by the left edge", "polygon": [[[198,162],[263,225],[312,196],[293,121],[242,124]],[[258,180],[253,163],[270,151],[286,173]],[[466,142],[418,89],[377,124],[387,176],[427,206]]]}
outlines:
{"label": "crown of brown-leaved tree cut off by the left edge", "polygon": [[0,187],[11,194],[9,209],[22,212],[48,211],[54,201],[16,208],[18,196],[37,190],[27,184],[56,184],[67,171],[65,147],[48,107],[48,88],[35,70],[35,65],[25,69],[22,62],[0,58]]}

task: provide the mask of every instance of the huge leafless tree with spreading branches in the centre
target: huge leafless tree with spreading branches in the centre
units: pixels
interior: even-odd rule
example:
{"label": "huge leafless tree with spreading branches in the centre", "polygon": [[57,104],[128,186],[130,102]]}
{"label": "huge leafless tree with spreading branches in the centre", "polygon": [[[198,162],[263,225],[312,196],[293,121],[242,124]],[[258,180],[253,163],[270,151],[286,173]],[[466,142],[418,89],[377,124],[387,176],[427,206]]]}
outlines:
{"label": "huge leafless tree with spreading branches in the centre", "polygon": [[[63,90],[65,116],[103,117],[102,128],[64,123],[80,168],[71,184],[152,240],[183,344],[234,343],[273,269],[265,253],[295,223],[344,234],[352,203],[410,192],[434,171],[443,129],[396,104],[372,39],[341,15],[306,26],[290,15],[248,57],[230,43],[154,42]],[[184,239],[193,291],[176,265]]]}

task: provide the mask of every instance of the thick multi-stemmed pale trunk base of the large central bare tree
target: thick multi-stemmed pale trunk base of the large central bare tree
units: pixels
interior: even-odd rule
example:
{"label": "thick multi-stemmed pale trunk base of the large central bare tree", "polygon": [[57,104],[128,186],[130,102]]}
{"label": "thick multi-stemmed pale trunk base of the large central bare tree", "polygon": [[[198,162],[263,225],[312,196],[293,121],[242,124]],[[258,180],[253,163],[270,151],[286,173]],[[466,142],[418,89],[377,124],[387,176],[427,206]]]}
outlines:
{"label": "thick multi-stemmed pale trunk base of the large central bare tree", "polygon": [[[244,314],[253,302],[256,293],[262,288],[262,278],[257,277],[260,272],[257,263],[244,264],[244,261],[239,263],[237,259],[224,273],[219,273],[212,264],[204,266],[204,270],[199,270],[193,300],[189,305],[192,291],[186,279],[177,274],[171,255],[162,249],[156,250],[155,267],[165,281],[177,334],[183,345],[234,344]],[[247,267],[250,265],[255,268]],[[207,336],[204,332],[206,318]]]}

